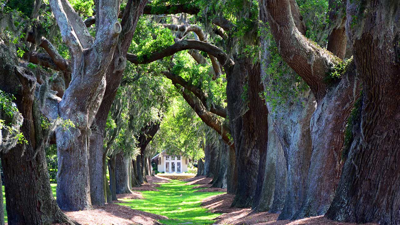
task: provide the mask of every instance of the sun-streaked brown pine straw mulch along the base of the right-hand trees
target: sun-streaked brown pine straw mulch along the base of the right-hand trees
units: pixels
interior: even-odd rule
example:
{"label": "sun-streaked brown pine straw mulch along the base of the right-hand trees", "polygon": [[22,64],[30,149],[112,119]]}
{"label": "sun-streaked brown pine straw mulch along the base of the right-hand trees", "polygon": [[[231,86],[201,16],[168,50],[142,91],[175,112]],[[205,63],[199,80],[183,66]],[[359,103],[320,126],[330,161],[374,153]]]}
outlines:
{"label": "sun-streaked brown pine straw mulch along the base of the right-hand trees", "polygon": [[[279,214],[276,213],[254,213],[250,208],[239,209],[230,207],[235,195],[222,194],[208,197],[202,200],[202,207],[209,209],[212,213],[224,213],[216,217],[214,224],[222,225],[357,225],[356,223],[343,223],[326,219],[324,216],[298,219],[294,221],[276,221]],[[365,223],[364,225],[376,225]]]}

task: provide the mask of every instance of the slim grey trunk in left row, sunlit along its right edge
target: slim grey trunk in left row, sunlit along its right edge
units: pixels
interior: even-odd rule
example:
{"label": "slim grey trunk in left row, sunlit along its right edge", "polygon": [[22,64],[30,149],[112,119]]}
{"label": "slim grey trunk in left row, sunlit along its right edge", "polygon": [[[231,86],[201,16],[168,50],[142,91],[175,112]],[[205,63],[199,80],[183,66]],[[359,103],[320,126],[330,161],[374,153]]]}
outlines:
{"label": "slim grey trunk in left row, sunlit along its right edge", "polygon": [[129,185],[129,167],[131,160],[123,152],[115,156],[115,192],[117,194],[132,193]]}

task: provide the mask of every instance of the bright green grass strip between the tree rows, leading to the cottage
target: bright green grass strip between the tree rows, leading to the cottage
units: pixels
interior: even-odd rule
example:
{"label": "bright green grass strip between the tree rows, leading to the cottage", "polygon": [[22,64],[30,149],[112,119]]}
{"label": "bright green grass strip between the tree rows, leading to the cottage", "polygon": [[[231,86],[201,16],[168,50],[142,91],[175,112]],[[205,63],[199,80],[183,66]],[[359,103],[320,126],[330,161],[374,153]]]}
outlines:
{"label": "bright green grass strip between the tree rows, leading to the cottage", "polygon": [[158,187],[160,191],[141,191],[144,199],[119,199],[124,203],[118,203],[137,209],[167,216],[168,220],[161,220],[160,223],[192,224],[203,225],[212,224],[215,217],[221,215],[217,213],[207,213],[206,209],[200,206],[202,199],[222,192],[194,192],[194,185],[184,185],[183,181],[172,181],[162,183]]}

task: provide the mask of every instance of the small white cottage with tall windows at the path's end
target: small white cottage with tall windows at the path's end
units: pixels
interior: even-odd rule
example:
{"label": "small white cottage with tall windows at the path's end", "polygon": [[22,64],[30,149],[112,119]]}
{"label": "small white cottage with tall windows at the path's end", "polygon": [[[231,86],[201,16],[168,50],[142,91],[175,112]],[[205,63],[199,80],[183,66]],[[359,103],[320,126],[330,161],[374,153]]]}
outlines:
{"label": "small white cottage with tall windows at the path's end", "polygon": [[160,173],[184,173],[188,172],[188,159],[182,155],[167,155],[158,153],[151,159],[157,163],[157,170]]}

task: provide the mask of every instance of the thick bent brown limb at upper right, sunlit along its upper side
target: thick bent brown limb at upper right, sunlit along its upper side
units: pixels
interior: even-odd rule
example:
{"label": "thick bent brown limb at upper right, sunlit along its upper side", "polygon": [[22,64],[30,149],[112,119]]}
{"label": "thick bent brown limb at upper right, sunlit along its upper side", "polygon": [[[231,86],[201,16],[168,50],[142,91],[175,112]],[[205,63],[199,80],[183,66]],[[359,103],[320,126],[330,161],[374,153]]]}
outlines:
{"label": "thick bent brown limb at upper right, sunlit along its upper side", "polygon": [[266,10],[280,55],[306,81],[318,101],[326,93],[326,74],[340,59],[300,33],[292,16],[295,8],[290,7],[291,1],[296,4],[294,0],[261,0],[260,9]]}

